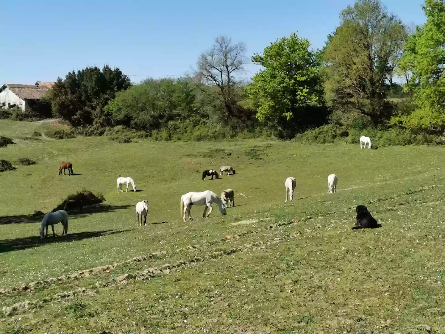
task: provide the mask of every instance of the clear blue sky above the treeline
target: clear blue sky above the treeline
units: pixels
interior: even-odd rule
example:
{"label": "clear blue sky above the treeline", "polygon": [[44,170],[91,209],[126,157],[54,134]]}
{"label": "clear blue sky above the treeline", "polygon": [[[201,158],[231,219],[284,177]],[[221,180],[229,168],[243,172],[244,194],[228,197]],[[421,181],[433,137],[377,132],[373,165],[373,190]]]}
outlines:
{"label": "clear blue sky above the treeline", "polygon": [[[296,32],[321,48],[348,0],[2,1],[0,85],[55,81],[86,66],[119,67],[132,81],[182,75],[226,35],[261,53]],[[423,24],[423,0],[384,0],[406,23]],[[258,67],[247,66],[246,77]]]}

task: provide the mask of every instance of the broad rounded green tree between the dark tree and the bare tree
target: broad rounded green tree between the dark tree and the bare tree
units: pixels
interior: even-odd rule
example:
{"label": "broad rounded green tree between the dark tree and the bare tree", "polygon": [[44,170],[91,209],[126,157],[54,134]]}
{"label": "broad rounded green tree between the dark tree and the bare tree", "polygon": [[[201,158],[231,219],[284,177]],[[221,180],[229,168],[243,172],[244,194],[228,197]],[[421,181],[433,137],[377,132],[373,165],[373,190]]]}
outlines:
{"label": "broad rounded green tree between the dark tree and the bare tree", "polygon": [[170,121],[203,117],[195,110],[195,96],[186,80],[148,79],[117,93],[105,107],[112,125],[137,130],[161,130]]}

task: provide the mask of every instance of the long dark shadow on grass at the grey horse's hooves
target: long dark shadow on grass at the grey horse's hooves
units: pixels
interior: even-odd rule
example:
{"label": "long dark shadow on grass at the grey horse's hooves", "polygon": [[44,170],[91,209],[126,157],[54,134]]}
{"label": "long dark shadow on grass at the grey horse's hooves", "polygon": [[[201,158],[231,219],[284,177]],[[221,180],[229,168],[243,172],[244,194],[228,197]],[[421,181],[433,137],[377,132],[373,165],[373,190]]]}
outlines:
{"label": "long dark shadow on grass at the grey horse's hooves", "polygon": [[[49,228],[49,230],[51,231],[51,228]],[[56,235],[55,237],[51,234],[51,232],[49,232],[48,237],[44,239],[40,239],[40,235],[27,236],[24,238],[16,238],[16,239],[5,239],[5,240],[0,240],[0,253],[39,247],[45,244],[51,244],[53,242],[71,242],[89,238],[97,238],[99,236],[109,236],[112,234],[130,232],[133,230],[134,229],[89,231],[89,232],[69,233],[68,235],[64,236]]]}

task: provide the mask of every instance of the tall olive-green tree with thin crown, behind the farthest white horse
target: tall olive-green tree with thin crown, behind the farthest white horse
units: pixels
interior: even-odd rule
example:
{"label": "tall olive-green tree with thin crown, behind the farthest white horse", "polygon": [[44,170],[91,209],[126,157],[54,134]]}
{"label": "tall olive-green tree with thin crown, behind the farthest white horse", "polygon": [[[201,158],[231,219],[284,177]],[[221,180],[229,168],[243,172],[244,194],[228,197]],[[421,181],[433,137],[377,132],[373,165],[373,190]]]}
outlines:
{"label": "tall olive-green tree with thin crown, behind the farthest white horse", "polygon": [[358,0],[340,13],[323,51],[328,106],[368,116],[374,126],[391,116],[387,87],[406,39],[401,20],[379,0]]}

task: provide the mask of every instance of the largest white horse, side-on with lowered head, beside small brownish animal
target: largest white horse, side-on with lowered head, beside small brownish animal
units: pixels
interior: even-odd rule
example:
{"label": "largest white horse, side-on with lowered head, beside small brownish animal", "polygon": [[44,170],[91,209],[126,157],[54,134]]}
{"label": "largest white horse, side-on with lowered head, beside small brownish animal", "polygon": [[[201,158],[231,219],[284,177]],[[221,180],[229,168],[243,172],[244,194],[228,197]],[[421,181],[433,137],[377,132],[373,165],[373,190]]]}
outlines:
{"label": "largest white horse, side-on with lowered head, beside small brownish animal", "polygon": [[[184,222],[186,221],[186,213],[189,220],[193,220],[190,216],[190,209],[192,205],[206,205],[202,218],[209,218],[212,212],[212,203],[218,204],[219,212],[223,216],[227,215],[226,204],[218,197],[213,191],[206,190],[202,192],[187,192],[181,196],[181,216]],[[209,214],[206,216],[207,209],[210,209]]]}

